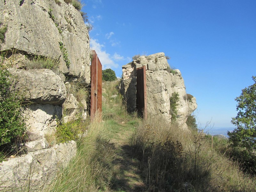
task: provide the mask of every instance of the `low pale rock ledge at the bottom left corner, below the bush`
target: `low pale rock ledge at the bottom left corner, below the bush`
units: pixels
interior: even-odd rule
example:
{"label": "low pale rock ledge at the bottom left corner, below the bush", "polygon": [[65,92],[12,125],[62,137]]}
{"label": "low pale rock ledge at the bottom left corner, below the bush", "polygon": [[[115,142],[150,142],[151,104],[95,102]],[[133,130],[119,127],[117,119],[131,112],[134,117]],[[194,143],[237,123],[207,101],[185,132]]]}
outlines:
{"label": "low pale rock ledge at the bottom left corner, below the bush", "polygon": [[[0,164],[1,188],[12,191],[37,191],[49,184],[60,167],[66,167],[76,155],[76,142],[60,143],[36,150]],[[1,190],[1,189],[0,189]]]}

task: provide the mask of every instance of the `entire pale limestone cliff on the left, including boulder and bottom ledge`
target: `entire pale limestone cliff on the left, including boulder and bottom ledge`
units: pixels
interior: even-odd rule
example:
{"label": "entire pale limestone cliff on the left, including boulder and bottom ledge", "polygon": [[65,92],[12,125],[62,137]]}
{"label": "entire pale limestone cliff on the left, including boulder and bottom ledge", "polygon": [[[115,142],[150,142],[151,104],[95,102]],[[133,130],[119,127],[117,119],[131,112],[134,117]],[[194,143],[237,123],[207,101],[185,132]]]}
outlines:
{"label": "entire pale limestone cliff on the left, including boulder and bottom ledge", "polygon": [[[55,131],[63,111],[70,112],[63,122],[81,112],[70,87],[90,84],[88,30],[81,13],[64,0],[0,0],[0,12],[0,27],[7,29],[0,40],[0,62],[10,67],[15,89],[29,104],[23,116],[34,137],[22,144],[28,154],[0,163],[0,190],[25,190],[29,185],[36,191],[76,155],[75,141],[53,145],[45,138]],[[86,102],[80,102],[86,118]]]}

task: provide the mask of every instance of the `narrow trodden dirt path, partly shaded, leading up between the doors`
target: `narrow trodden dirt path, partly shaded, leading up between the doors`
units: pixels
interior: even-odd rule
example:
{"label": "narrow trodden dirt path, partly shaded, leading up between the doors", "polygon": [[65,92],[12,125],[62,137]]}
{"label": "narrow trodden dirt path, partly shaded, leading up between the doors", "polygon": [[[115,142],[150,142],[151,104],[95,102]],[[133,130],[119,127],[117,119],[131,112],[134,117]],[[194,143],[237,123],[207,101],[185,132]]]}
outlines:
{"label": "narrow trodden dirt path, partly shaded, leading up between the doors", "polygon": [[139,162],[132,156],[131,129],[122,129],[111,140],[116,146],[117,156],[113,162],[117,174],[112,180],[111,189],[118,192],[147,191],[145,181],[139,170]]}

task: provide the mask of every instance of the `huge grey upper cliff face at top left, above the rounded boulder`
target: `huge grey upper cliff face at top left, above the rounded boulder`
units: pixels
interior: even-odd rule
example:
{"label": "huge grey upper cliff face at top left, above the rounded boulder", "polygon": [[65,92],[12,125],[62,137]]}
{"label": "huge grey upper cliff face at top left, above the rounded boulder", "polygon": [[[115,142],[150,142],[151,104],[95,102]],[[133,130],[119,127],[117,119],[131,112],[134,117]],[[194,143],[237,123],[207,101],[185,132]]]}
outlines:
{"label": "huge grey upper cliff face at top left, above the rounded boulder", "polygon": [[[1,51],[16,50],[60,61],[60,76],[78,76],[90,83],[89,35],[79,11],[60,0],[2,1],[0,21],[8,26]],[[66,65],[63,49],[70,67]]]}

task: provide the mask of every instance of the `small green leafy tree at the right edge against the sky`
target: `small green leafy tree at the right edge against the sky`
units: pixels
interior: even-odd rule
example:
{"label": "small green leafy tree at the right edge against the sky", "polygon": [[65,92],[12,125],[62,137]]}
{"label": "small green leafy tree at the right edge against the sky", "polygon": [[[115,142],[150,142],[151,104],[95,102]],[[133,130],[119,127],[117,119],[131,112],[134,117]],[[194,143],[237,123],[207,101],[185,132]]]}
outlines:
{"label": "small green leafy tree at the right edge against the sky", "polygon": [[256,76],[252,79],[254,84],[244,88],[235,99],[238,113],[231,123],[236,125],[236,129],[228,132],[232,147],[243,147],[248,151],[256,150]]}

